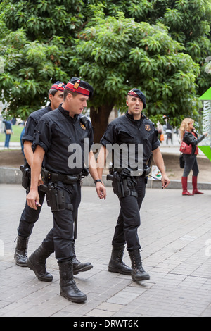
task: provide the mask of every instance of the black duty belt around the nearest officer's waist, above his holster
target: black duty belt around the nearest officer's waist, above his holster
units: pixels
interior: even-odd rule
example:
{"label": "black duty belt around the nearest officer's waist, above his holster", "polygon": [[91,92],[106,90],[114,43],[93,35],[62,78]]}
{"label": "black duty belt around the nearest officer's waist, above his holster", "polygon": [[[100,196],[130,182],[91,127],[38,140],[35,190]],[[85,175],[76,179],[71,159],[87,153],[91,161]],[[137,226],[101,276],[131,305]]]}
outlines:
{"label": "black duty belt around the nearest officer's waist, above his holster", "polygon": [[42,168],[41,177],[44,182],[63,182],[64,184],[74,184],[82,178],[82,174],[78,175],[60,175],[58,173],[51,173],[50,171]]}

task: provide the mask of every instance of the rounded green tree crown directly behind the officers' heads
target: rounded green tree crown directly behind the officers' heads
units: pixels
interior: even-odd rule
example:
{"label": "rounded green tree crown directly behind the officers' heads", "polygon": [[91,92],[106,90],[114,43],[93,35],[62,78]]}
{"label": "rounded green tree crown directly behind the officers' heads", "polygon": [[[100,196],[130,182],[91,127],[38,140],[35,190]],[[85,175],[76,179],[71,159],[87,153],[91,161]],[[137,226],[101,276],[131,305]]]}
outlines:
{"label": "rounded green tree crown directly behind the officers' heads", "polygon": [[96,17],[92,13],[93,19],[75,40],[70,67],[94,85],[91,118],[96,127],[105,129],[113,106],[125,110],[125,96],[133,87],[146,94],[145,113],[155,120],[164,114],[179,118],[197,112],[198,65],[182,53],[184,46],[170,37],[167,27],[137,23],[123,13],[104,16],[96,6],[92,10]]}

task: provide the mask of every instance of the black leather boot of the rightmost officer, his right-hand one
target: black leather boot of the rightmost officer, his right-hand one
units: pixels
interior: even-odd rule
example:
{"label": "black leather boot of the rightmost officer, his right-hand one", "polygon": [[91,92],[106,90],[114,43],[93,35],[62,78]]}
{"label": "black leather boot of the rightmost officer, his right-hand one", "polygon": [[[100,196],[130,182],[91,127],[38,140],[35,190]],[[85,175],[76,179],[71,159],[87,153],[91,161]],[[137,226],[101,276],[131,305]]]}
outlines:
{"label": "black leather boot of the rightmost officer, his right-hand one", "polygon": [[140,280],[149,280],[150,275],[143,270],[142,262],[141,262],[141,255],[139,249],[134,251],[129,251],[129,257],[132,263],[132,280],[139,282]]}

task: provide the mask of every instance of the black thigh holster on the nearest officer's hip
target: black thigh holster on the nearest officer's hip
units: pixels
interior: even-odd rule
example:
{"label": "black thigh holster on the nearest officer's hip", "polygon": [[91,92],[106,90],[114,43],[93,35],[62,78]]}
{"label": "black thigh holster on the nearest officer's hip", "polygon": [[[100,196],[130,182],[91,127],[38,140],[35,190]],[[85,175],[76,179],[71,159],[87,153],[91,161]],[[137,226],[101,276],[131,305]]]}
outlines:
{"label": "black thigh holster on the nearest officer's hip", "polygon": [[73,210],[72,204],[65,203],[65,192],[57,189],[56,184],[49,182],[47,185],[39,185],[39,189],[46,193],[46,201],[51,211]]}

